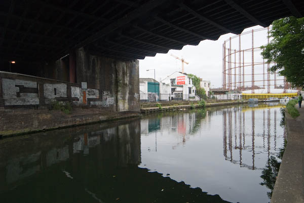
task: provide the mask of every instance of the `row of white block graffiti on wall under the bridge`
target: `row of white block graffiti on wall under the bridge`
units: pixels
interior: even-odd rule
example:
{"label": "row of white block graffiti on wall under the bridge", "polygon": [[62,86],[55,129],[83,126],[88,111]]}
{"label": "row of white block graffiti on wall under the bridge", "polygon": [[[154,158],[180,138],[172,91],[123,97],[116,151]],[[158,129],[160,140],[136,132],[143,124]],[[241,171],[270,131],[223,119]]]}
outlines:
{"label": "row of white block graffiti on wall under the bridge", "polygon": [[[0,82],[4,106],[39,105],[41,98],[44,99],[45,104],[51,104],[56,98],[68,98],[67,84],[65,83],[44,83],[43,95],[39,95],[38,84],[35,81],[2,78]],[[71,86],[70,88],[71,97],[79,98],[73,100],[75,105],[86,104],[84,103],[84,98],[85,102],[88,102],[88,98],[99,99],[98,89],[82,89],[76,86]],[[98,106],[108,107],[114,104],[114,99],[109,91],[103,91],[103,100],[95,100],[94,103]]]}

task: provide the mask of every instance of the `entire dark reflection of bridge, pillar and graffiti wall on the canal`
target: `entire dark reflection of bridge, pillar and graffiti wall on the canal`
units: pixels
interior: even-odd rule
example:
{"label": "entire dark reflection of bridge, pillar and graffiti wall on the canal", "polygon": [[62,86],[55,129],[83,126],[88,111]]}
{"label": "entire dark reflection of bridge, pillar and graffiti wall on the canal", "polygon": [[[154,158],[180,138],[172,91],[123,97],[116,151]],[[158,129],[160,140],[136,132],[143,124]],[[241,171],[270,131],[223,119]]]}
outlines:
{"label": "entire dark reflection of bridge, pillar and graffiti wall on the canal", "polygon": [[140,146],[140,119],[0,140],[0,200],[227,202],[138,168]]}

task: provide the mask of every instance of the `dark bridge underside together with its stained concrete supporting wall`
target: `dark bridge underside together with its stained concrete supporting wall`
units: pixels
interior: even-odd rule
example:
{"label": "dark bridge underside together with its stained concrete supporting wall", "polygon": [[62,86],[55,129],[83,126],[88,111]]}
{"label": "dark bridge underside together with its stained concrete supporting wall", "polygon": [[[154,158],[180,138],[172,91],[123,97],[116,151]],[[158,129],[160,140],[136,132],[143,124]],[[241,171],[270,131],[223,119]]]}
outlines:
{"label": "dark bridge underside together with its stained concrete supporting wall", "polygon": [[[216,40],[224,33],[239,34],[253,25],[269,26],[273,20],[291,15],[304,15],[304,1],[2,0],[0,71],[68,82],[64,92],[77,93],[79,104],[139,111],[137,59],[197,45],[204,39]],[[10,66],[12,60],[16,64]],[[25,79],[33,86],[26,87]],[[94,103],[88,104],[83,95],[88,90],[82,88],[82,82],[93,89],[90,92],[97,92]],[[15,88],[21,85],[25,91],[45,85],[44,91],[49,91],[54,89],[49,83],[0,74],[0,108],[14,106],[12,101],[18,99],[16,105],[23,104],[19,97],[28,93],[36,96],[35,104],[57,99],[57,90],[42,94],[38,88],[21,94]],[[69,93],[61,97],[76,98]],[[109,100],[112,106],[108,106]]]}

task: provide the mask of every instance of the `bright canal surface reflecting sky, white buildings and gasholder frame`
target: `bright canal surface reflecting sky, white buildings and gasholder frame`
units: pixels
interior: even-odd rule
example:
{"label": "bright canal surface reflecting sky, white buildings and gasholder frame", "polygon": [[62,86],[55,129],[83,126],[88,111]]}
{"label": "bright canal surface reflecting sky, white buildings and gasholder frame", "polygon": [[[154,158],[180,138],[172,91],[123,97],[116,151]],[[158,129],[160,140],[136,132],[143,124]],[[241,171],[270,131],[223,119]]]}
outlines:
{"label": "bright canal surface reflecting sky, white buildings and gasholder frame", "polygon": [[140,167],[232,202],[268,202],[270,190],[259,183],[286,136],[277,126],[280,107],[268,103],[144,117]]}

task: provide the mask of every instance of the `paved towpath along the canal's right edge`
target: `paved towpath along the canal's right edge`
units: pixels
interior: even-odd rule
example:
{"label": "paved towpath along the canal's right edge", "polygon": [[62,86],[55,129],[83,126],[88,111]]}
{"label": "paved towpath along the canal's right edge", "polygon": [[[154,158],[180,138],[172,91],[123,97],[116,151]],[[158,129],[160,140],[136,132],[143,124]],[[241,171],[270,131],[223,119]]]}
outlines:
{"label": "paved towpath along the canal's right edge", "polygon": [[286,113],[288,142],[271,202],[304,202],[304,104],[296,119]]}

